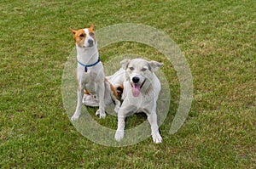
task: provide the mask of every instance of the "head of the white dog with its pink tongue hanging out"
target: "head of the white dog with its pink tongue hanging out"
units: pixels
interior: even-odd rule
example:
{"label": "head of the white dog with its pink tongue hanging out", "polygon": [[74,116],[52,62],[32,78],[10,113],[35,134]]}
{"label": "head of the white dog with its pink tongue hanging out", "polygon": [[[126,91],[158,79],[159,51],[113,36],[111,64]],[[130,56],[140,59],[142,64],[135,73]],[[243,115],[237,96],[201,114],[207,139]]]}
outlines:
{"label": "head of the white dog with its pink tongue hanging out", "polygon": [[145,83],[152,83],[154,71],[163,65],[157,61],[145,59],[124,59],[120,64],[126,70],[128,81],[131,82],[131,93],[134,97],[139,96]]}

